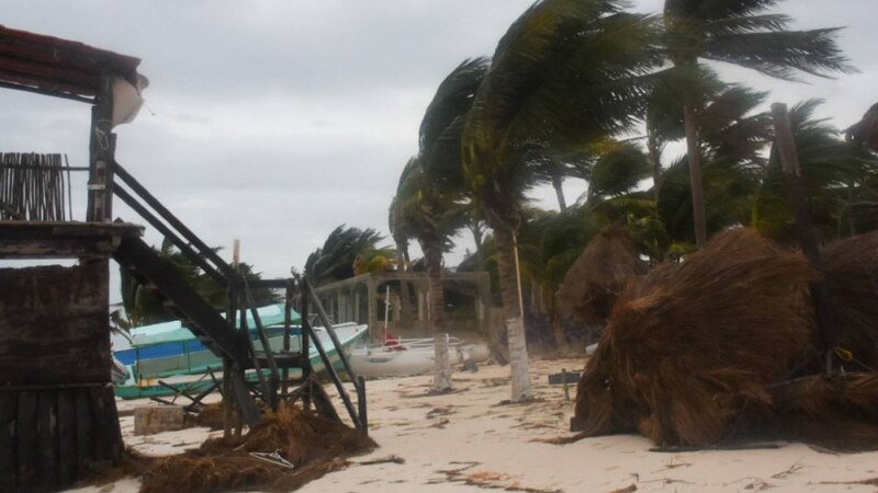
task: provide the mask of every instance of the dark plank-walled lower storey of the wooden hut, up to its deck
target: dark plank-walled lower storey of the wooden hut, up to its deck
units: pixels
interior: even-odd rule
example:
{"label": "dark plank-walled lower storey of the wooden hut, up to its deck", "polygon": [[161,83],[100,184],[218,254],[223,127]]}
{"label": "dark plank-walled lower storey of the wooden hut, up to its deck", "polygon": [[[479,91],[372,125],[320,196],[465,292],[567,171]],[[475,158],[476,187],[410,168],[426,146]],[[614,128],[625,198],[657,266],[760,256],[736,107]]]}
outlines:
{"label": "dark plank-walled lower storey of the wooden hut, up to its deck", "polygon": [[56,490],[122,454],[110,383],[109,265],[133,225],[0,221],[0,491]]}

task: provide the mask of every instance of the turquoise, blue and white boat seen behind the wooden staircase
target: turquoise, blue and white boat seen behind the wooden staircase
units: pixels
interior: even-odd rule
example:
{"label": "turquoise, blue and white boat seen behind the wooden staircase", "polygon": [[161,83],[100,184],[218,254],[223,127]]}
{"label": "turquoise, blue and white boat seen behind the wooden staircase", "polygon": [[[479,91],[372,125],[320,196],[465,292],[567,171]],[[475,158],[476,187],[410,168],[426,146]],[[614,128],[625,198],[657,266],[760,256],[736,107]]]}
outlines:
{"label": "turquoise, blue and white boat seen behind the wooden staircase", "polygon": [[[283,347],[283,328],[267,328],[269,331],[269,345],[273,351],[279,351]],[[290,337],[290,351],[296,352],[301,347],[301,326],[293,328],[293,334]],[[339,340],[342,351],[350,352],[350,348],[358,341],[362,340],[367,333],[367,325],[356,323],[344,323],[334,326],[336,336]],[[189,331],[187,331],[189,332]],[[327,356],[334,366],[340,368],[341,357],[339,356],[338,348],[331,341],[329,333],[322,326],[314,328],[317,339],[320,341]],[[159,341],[149,344],[138,344],[131,349],[134,351],[134,356],[147,357],[143,359],[134,359],[132,363],[125,365],[127,378],[124,382],[115,386],[115,393],[122,399],[139,399],[150,397],[172,395],[178,390],[187,393],[198,393],[210,389],[213,385],[214,377],[222,377],[223,363],[219,357],[210,351],[202,351],[201,342],[189,332],[188,340],[181,341],[166,341],[158,337]],[[142,340],[143,341],[143,340]],[[168,344],[176,344],[171,347]],[[257,351],[261,351],[262,345],[259,341],[255,341]],[[198,349],[198,351],[191,351]],[[317,348],[314,344],[308,344],[308,358],[312,368],[315,372],[320,372],[326,369],[323,358],[319,356]],[[182,352],[182,353],[180,353]],[[130,358],[132,353],[119,355],[124,352],[116,352],[116,357],[122,360],[123,357]],[[123,362],[124,363],[124,362]],[[267,375],[267,370],[263,370]],[[291,369],[290,376],[295,378],[301,375],[301,369]],[[257,381],[259,376],[256,370],[248,370],[246,375],[249,381]],[[159,383],[162,380],[164,383]],[[177,389],[177,390],[175,390]]]}

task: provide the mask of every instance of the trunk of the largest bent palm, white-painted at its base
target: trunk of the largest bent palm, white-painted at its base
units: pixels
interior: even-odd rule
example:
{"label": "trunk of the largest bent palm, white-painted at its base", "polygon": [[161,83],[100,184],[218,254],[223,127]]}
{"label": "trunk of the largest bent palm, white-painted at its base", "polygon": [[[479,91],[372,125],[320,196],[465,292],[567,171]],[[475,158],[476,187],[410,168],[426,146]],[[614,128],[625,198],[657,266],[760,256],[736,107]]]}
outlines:
{"label": "trunk of the largest bent palm, white-painted at its base", "polygon": [[497,271],[499,273],[500,294],[503,295],[503,316],[506,320],[506,333],[509,342],[511,400],[513,402],[521,402],[532,399],[533,391],[530,386],[525,319],[520,310],[518,293],[515,240],[511,231],[505,228],[495,228],[494,231],[497,236]]}

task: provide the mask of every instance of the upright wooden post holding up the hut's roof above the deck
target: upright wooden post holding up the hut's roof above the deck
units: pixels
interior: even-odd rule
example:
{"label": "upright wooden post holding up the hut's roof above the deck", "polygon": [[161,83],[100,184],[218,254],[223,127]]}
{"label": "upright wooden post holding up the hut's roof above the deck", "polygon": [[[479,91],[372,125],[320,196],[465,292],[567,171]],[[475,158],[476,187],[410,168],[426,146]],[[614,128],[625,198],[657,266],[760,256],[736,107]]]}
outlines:
{"label": "upright wooden post holding up the hut's roof above the deck", "polygon": [[89,136],[89,194],[86,220],[113,220],[113,162],[116,136],[113,134],[113,90],[108,74],[101,76],[98,103],[91,108]]}

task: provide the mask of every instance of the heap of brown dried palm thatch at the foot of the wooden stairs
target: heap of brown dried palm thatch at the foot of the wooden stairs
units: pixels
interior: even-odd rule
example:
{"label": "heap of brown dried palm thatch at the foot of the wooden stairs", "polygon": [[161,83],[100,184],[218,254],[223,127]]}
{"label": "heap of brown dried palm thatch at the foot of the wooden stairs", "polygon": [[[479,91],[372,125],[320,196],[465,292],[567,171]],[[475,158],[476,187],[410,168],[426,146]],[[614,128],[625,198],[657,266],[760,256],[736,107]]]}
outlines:
{"label": "heap of brown dried palm thatch at the foot of the wooden stairs", "polygon": [[[198,450],[156,459],[144,473],[140,492],[293,491],[345,467],[345,457],[373,447],[371,438],[337,421],[281,406],[244,437],[211,439]],[[294,468],[250,455],[275,450]]]}

